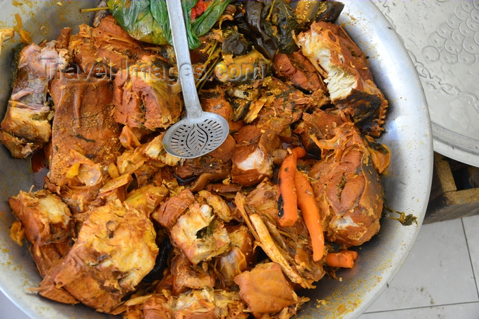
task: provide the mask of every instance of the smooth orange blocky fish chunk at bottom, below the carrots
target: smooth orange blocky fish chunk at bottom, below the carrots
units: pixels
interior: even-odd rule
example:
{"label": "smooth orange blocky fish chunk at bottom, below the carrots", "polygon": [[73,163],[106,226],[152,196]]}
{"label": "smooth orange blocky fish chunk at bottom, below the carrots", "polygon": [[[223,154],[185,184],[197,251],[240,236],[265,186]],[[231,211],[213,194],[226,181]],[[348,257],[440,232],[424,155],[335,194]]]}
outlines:
{"label": "smooth orange blocky fish chunk at bottom, below the carrots", "polygon": [[281,267],[274,262],[257,264],[251,271],[237,275],[235,283],[239,286],[239,296],[256,318],[305,302],[296,295]]}

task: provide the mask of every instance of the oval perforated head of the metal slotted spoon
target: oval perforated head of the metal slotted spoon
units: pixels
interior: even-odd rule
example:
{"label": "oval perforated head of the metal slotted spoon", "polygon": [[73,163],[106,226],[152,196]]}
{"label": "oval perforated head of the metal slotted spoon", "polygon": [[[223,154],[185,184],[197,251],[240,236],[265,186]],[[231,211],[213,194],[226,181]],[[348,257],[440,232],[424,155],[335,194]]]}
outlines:
{"label": "oval perforated head of the metal slotted spoon", "polygon": [[166,152],[181,158],[196,158],[218,148],[229,133],[224,117],[203,112],[200,117],[185,117],[168,130],[163,137]]}

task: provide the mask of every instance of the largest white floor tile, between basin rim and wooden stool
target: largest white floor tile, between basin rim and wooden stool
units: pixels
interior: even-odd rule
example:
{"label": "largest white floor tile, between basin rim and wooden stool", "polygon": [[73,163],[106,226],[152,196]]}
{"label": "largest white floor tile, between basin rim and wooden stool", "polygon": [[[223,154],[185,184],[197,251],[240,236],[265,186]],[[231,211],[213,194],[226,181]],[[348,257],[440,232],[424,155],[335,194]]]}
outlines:
{"label": "largest white floor tile, between basin rim and wooden stool", "polygon": [[476,282],[463,225],[455,219],[422,227],[398,275],[366,312],[473,301],[479,301]]}

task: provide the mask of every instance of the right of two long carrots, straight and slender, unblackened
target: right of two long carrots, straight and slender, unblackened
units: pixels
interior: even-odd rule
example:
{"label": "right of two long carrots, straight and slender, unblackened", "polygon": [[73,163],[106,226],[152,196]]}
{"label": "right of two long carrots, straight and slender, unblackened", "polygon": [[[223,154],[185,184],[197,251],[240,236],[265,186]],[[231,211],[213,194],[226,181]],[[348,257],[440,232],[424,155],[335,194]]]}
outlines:
{"label": "right of two long carrots, straight and slender, unblackened", "polygon": [[308,180],[308,176],[296,171],[294,174],[294,185],[296,186],[296,195],[298,196],[298,207],[302,212],[302,218],[311,236],[311,245],[313,246],[313,260],[317,262],[323,258],[324,254],[324,234],[320,218],[320,210],[314,198],[313,187]]}

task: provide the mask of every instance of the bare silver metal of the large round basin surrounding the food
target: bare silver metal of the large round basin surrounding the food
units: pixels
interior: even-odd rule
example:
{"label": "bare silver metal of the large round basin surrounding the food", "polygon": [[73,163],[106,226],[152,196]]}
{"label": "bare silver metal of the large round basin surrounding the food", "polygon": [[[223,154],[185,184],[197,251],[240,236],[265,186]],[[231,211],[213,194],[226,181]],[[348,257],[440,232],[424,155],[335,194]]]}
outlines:
{"label": "bare silver metal of the large round basin surrounding the food", "polygon": [[[22,4],[19,4],[22,3]],[[24,27],[35,42],[56,38],[63,27],[88,23],[92,14],[80,14],[79,8],[96,1],[1,1],[0,20],[5,27],[14,25],[14,14],[23,17]],[[339,23],[370,57],[371,70],[380,89],[390,102],[381,142],[392,151],[391,165],[383,176],[386,206],[414,214],[418,225],[403,226],[383,218],[380,233],[361,247],[352,270],[339,271],[342,280],[324,278],[318,288],[305,292],[311,302],[300,317],[357,318],[385,289],[406,259],[424,218],[432,178],[432,134],[428,108],[421,83],[402,42],[371,1],[345,1]],[[0,115],[3,117],[10,97],[11,48],[1,50]],[[0,290],[31,318],[107,318],[81,305],[62,305],[44,299],[28,288],[40,283],[27,248],[9,238],[14,221],[7,203],[18,191],[33,184],[29,161],[14,159],[0,147]],[[388,213],[387,211],[385,211]],[[326,301],[324,305],[318,301]],[[307,317],[310,318],[310,317]]]}

